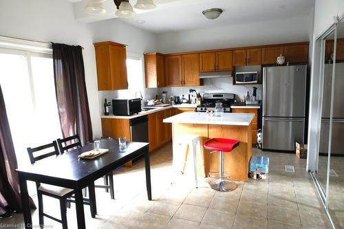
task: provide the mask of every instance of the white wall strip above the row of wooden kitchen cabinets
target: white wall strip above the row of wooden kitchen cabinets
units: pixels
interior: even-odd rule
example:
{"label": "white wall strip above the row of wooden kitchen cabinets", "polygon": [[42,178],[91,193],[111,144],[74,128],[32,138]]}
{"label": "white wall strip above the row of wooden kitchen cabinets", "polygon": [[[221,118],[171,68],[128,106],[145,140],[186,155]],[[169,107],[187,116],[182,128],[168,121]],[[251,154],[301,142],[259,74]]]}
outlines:
{"label": "white wall strip above the row of wooden kitchen cabinets", "polygon": [[162,53],[212,50],[226,47],[309,41],[308,15],[294,19],[259,21],[202,30],[158,34]]}

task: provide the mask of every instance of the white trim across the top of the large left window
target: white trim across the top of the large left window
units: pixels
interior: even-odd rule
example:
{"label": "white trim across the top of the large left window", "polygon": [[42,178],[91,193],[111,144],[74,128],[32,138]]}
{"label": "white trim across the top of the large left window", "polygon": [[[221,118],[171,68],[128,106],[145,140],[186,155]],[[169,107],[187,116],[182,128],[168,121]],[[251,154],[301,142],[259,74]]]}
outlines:
{"label": "white trim across the top of the large left window", "polygon": [[0,47],[10,50],[23,50],[52,54],[52,44],[0,36]]}

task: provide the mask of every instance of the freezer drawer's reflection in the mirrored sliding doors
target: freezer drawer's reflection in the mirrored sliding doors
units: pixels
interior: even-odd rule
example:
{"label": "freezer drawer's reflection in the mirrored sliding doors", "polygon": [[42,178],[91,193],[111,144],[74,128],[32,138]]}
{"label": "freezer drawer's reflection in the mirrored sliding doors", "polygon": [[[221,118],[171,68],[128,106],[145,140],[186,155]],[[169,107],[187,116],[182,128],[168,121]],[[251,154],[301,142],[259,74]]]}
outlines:
{"label": "freezer drawer's reflection in the mirrored sliding doors", "polygon": [[[332,144],[331,144],[331,153],[333,154],[344,154],[344,144],[343,144],[343,135],[344,135],[344,119],[336,120],[332,122]],[[328,152],[328,136],[330,133],[330,120],[323,119],[321,120],[321,130],[320,130],[320,153]]]}

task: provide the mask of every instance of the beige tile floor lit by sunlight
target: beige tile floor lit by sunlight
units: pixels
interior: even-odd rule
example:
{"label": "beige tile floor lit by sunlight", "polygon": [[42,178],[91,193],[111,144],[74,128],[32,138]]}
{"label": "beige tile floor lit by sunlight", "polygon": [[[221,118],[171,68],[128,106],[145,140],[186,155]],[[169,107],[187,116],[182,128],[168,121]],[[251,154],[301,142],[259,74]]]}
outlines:
{"label": "beige tile floor lit by sunlight", "polygon": [[[96,190],[98,215],[92,219],[85,206],[87,228],[331,228],[312,179],[305,173],[305,160],[294,154],[269,153],[253,149],[255,155],[270,157],[266,180],[237,182],[230,193],[208,188],[202,177],[194,188],[192,177],[175,175],[171,144],[151,155],[153,201],[147,200],[144,162],[114,172],[116,199]],[[294,165],[295,173],[285,171]],[[191,174],[192,175],[192,174]],[[45,199],[45,209],[59,217],[58,204]],[[69,228],[76,228],[74,205],[67,210]],[[37,210],[32,211],[38,223]],[[21,214],[0,221],[23,223]],[[45,224],[61,228],[45,218]]]}

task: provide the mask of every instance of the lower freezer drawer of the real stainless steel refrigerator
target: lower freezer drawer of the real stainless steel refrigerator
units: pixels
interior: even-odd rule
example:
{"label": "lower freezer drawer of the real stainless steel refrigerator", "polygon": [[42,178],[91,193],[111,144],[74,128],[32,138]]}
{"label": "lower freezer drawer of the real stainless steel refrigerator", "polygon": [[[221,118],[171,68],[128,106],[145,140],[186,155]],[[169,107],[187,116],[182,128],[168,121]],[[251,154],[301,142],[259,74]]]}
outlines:
{"label": "lower freezer drawer of the real stainless steel refrigerator", "polygon": [[304,118],[263,117],[263,149],[294,151],[295,142],[303,143]]}

